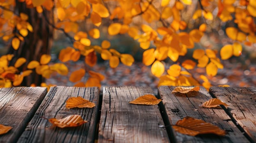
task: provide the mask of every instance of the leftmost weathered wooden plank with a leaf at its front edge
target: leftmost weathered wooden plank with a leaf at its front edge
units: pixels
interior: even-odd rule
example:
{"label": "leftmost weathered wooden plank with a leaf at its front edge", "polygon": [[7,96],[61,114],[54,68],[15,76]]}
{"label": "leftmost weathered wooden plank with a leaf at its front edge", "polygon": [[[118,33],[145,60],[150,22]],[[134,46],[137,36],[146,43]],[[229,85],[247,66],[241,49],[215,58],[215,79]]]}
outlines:
{"label": "leftmost weathered wooden plank with a leaf at its front edge", "polygon": [[15,143],[46,96],[44,87],[0,88],[0,124],[12,126],[0,143]]}

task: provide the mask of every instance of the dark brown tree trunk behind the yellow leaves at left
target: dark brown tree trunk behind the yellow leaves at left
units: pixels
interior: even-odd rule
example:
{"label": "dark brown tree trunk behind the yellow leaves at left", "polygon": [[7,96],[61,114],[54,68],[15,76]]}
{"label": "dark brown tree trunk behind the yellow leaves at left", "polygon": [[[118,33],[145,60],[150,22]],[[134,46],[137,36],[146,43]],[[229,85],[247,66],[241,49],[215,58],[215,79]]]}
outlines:
{"label": "dark brown tree trunk behind the yellow leaves at left", "polygon": [[[42,54],[50,54],[50,47],[53,43],[53,27],[51,27],[48,21],[53,21],[53,11],[47,11],[44,9],[43,13],[37,13],[35,8],[27,8],[25,2],[18,2],[16,0],[16,13],[25,13],[29,16],[27,20],[33,27],[33,32],[24,37],[24,41],[21,42],[21,45],[18,50],[14,50],[12,47],[9,48],[9,54],[14,54],[10,65],[14,65],[15,61],[18,58],[24,57],[27,59],[27,62],[19,68],[20,71],[24,71],[27,68],[27,64],[31,60],[40,60]],[[18,32],[14,30],[14,33]],[[21,86],[30,86],[34,83],[37,86],[40,86],[45,79],[36,74],[35,71],[30,76],[24,78]]]}

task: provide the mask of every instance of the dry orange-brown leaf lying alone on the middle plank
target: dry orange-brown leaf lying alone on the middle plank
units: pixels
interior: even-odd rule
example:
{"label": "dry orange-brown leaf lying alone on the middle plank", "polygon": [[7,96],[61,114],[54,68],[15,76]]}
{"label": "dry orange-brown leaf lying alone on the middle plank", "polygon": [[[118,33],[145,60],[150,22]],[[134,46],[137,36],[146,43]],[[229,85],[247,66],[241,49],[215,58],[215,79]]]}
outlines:
{"label": "dry orange-brown leaf lying alone on the middle plank", "polygon": [[156,98],[152,94],[146,94],[144,96],[140,96],[139,98],[136,98],[134,101],[130,101],[130,104],[141,104],[141,105],[157,105],[162,100]]}

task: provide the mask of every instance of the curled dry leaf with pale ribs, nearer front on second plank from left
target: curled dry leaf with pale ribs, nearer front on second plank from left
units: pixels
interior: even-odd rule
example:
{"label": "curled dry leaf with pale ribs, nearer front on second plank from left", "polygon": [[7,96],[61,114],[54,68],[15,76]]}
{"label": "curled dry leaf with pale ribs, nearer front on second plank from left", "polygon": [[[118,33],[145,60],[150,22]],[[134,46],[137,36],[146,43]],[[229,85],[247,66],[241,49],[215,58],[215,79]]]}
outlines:
{"label": "curled dry leaf with pale ribs, nearer front on second plank from left", "polygon": [[60,128],[77,127],[84,123],[87,123],[87,121],[84,121],[80,115],[70,115],[62,119],[50,118],[48,119],[48,121],[52,123],[54,126],[57,126]]}

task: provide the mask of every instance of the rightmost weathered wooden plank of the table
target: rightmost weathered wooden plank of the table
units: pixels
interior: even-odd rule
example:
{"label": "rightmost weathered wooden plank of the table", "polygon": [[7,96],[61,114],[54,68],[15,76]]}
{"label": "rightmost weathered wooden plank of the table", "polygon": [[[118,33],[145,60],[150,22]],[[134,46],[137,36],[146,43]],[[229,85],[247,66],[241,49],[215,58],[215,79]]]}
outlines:
{"label": "rightmost weathered wooden plank of the table", "polygon": [[229,105],[224,110],[256,142],[256,87],[211,87],[210,94]]}

